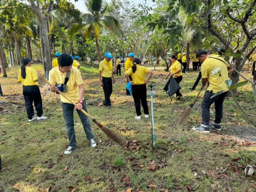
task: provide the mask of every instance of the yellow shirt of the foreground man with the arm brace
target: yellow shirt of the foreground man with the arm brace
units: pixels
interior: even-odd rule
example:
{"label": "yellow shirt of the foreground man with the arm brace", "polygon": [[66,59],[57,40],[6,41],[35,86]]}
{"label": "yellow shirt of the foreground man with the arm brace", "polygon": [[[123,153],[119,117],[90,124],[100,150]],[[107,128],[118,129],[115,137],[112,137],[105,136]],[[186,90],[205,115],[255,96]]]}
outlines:
{"label": "yellow shirt of the foreground man with the arm brace", "polygon": [[[52,84],[60,84],[60,83],[63,84],[66,76],[67,76],[67,73],[62,73],[58,67],[55,67],[49,72],[49,82]],[[83,80],[82,80],[81,74],[78,71],[78,69],[73,66],[71,69],[69,80],[67,82],[67,92],[64,92],[63,94],[66,95],[73,102],[77,103],[79,100],[78,85],[82,85],[82,84],[83,84]],[[71,103],[62,95],[61,95],[61,101],[63,103]]]}

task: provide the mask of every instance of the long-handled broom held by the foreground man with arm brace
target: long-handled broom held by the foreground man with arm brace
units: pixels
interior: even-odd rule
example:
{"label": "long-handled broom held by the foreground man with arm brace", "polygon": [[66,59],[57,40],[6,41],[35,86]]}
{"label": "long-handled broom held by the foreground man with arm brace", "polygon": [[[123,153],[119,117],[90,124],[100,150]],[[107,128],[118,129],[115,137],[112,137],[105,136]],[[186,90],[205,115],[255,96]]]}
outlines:
{"label": "long-handled broom held by the foreground man with arm brace", "polygon": [[[52,86],[52,84],[48,80],[46,80],[44,77],[41,78],[41,79],[43,79],[44,82],[48,83],[48,85]],[[70,100],[62,92],[60,92],[59,90],[57,92],[59,94],[61,94],[63,97],[65,97],[67,100],[69,100],[74,106],[76,106],[76,103],[73,102],[72,100]],[[127,142],[126,142],[126,140],[123,139],[123,137],[118,136],[118,134],[116,134],[115,132],[113,132],[113,131],[109,130],[108,128],[104,127],[102,124],[97,122],[95,118],[93,118],[91,115],[89,115],[87,112],[85,112],[85,110],[81,109],[81,112],[84,113],[86,116],[88,116],[88,118],[93,119],[93,122],[96,125],[98,125],[98,127],[106,134],[106,136],[109,137],[109,139],[111,139],[112,141],[118,143],[118,145],[127,146]]]}

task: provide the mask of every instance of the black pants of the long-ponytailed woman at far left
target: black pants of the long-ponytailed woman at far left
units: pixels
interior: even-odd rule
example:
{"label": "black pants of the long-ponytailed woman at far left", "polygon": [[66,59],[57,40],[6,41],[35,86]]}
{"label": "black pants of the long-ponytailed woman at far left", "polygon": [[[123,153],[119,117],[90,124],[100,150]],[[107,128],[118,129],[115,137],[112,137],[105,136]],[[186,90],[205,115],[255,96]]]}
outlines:
{"label": "black pants of the long-ponytailed woman at far left", "polygon": [[43,105],[40,90],[37,85],[24,86],[23,85],[23,96],[25,99],[26,113],[28,114],[28,119],[32,119],[35,115],[33,101],[35,110],[37,110],[37,116],[43,115]]}

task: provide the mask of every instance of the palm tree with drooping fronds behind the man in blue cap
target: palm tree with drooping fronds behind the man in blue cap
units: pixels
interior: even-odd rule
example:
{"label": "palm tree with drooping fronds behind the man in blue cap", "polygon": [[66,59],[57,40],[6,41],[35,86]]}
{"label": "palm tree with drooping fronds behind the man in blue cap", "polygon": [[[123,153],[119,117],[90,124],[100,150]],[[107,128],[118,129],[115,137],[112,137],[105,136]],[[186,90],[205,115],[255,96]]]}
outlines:
{"label": "palm tree with drooping fronds behind the man in blue cap", "polygon": [[94,37],[96,41],[96,48],[98,53],[99,62],[101,61],[100,47],[98,38],[100,36],[100,28],[105,27],[110,31],[114,32],[117,36],[123,36],[121,31],[120,23],[115,17],[106,13],[108,7],[103,7],[102,0],[85,0],[85,5],[87,6],[90,13],[84,14],[86,20],[86,26],[82,31],[82,35],[85,38],[91,38],[91,32],[94,31]]}

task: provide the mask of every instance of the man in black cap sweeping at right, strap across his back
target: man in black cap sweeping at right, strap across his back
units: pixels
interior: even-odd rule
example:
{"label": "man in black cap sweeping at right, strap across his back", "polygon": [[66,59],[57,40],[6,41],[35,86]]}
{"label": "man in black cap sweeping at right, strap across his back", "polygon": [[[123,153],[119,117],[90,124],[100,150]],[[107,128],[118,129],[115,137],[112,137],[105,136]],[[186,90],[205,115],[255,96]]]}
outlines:
{"label": "man in black cap sweeping at right, strap across his back", "polygon": [[[209,86],[204,94],[203,102],[201,104],[202,110],[202,122],[200,127],[196,128],[196,131],[203,133],[210,133],[210,127],[215,130],[221,130],[221,119],[223,113],[223,103],[225,97],[228,94],[228,88],[225,80],[228,78],[227,62],[221,56],[209,55],[206,50],[199,50],[197,56],[200,56],[200,62],[203,63],[201,66],[202,73],[202,85],[203,89],[207,82]],[[222,94],[216,95],[211,98],[216,92],[224,91]],[[215,103],[215,121],[209,125],[210,122],[210,106]]]}

